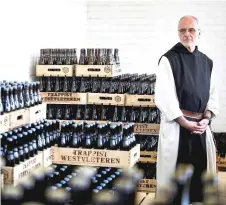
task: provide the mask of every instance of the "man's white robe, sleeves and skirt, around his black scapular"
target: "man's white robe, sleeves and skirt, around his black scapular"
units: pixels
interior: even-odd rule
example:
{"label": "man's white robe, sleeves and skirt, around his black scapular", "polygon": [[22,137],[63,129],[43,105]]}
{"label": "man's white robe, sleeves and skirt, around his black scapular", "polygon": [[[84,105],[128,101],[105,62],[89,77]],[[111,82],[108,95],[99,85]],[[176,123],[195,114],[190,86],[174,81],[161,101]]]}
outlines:
{"label": "man's white robe, sleeves and skirt, around his black scapular", "polygon": [[[157,194],[161,186],[166,185],[175,171],[180,126],[174,119],[182,116],[179,108],[174,77],[169,60],[163,56],[157,72],[155,104],[161,111],[157,154]],[[206,110],[218,114],[218,95],[214,83],[214,69],[211,74],[210,97]],[[207,171],[216,172],[216,149],[210,128],[206,130]]]}

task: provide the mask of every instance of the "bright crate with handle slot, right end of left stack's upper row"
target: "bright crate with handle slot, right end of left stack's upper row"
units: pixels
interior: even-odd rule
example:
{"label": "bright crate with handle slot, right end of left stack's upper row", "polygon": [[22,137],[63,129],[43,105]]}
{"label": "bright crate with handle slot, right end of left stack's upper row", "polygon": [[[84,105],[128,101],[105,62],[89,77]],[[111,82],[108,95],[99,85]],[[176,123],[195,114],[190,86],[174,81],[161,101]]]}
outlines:
{"label": "bright crate with handle slot, right end of left stack's upper row", "polygon": [[29,123],[37,122],[41,119],[46,119],[46,104],[40,104],[28,108],[29,110]]}

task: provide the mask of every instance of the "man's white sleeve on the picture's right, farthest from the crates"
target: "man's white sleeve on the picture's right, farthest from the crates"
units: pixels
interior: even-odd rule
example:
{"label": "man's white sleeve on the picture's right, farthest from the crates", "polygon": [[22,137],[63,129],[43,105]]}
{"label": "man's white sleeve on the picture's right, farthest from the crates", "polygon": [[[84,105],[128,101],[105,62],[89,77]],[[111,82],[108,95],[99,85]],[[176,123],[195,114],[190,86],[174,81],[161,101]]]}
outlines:
{"label": "man's white sleeve on the picture's right, farthest from the crates", "polygon": [[206,110],[210,110],[214,117],[219,114],[219,99],[216,87],[216,76],[215,71],[212,69],[211,80],[210,80],[210,97],[207,103]]}

